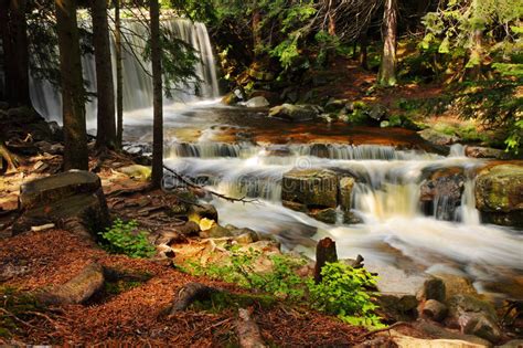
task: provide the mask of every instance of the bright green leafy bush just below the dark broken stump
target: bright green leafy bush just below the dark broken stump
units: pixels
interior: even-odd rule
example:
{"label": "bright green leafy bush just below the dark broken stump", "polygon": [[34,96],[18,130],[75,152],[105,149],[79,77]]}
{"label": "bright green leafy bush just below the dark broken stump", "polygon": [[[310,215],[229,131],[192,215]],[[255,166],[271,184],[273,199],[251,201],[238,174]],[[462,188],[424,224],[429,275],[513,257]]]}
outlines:
{"label": "bright green leafy bush just below the dark broken stump", "polygon": [[377,308],[366,288],[376,286],[376,277],[364,268],[353,268],[344,263],[327,263],[321,270],[322,281],[308,281],[312,306],[337,315],[352,325],[381,327]]}

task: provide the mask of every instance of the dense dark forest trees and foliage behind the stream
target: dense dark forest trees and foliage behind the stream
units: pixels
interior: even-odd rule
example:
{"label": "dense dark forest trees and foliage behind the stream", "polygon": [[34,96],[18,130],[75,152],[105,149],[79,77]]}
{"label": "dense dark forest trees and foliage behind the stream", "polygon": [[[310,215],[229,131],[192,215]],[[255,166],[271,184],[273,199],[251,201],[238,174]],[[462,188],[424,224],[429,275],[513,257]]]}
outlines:
{"label": "dense dark forest trees and foliage behind the stream", "polygon": [[[76,15],[78,9],[87,11]],[[482,129],[495,129],[492,146],[514,152],[521,147],[523,4],[519,2],[2,0],[0,10],[1,98],[13,106],[31,105],[29,74],[60,86],[65,143],[71,149],[65,168],[86,168],[84,105],[93,95],[85,92],[82,80],[85,52],[96,56],[97,148],[121,145],[121,84],[126,83],[121,42],[136,34],[121,29],[122,20],[147,28],[147,44],[134,49],[134,54],[152,63],[154,158],[161,159],[161,91],[169,95],[194,80],[193,63],[199,59],[199,52],[161,25],[160,17],[169,15],[207,25],[225,89],[234,91],[228,103],[262,94],[268,99],[277,95],[284,102],[324,104],[331,96],[313,91],[321,84],[321,73],[331,71],[338,59],[350,59],[377,77],[363,95],[402,85],[437,86],[436,96],[425,97],[421,92],[417,99],[395,103],[412,115],[451,109],[457,117],[478,120]],[[109,40],[116,41],[116,66]],[[343,81],[332,85],[349,88]],[[357,114],[348,120],[357,123]],[[399,124],[415,124],[407,120]],[[153,178],[159,180],[161,162],[153,167]]]}

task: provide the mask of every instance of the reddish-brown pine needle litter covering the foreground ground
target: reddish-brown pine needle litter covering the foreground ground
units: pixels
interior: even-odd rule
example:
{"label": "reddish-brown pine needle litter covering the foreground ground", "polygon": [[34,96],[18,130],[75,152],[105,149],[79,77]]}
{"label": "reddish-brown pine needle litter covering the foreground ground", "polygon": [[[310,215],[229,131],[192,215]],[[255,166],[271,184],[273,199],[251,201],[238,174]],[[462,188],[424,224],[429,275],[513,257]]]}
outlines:
{"label": "reddish-brown pine needle litter covering the foreground ground", "polygon": [[[236,308],[189,309],[172,316],[162,315],[162,310],[190,282],[236,294],[248,291],[194,277],[163,263],[110,255],[66,231],[28,232],[0,240],[0,286],[22,293],[49,288],[66,283],[93,261],[107,267],[147,273],[150,280],[88,304],[25,313],[23,319],[14,319],[19,325],[13,336],[0,336],[0,344],[140,347],[224,347],[237,344]],[[263,339],[279,347],[353,346],[355,339],[366,331],[286,303],[256,306],[253,317]]]}

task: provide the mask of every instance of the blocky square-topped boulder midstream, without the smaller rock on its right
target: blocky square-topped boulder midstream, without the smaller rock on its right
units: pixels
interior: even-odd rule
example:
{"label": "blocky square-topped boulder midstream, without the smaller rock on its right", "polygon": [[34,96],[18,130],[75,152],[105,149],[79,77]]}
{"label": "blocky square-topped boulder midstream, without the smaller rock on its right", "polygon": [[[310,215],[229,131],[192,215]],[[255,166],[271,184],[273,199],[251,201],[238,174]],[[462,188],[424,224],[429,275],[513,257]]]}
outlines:
{"label": "blocky square-topped boulder midstream, without the smaller rock on its right", "polygon": [[293,169],[284,175],[281,199],[308,208],[338,205],[338,176],[327,169]]}

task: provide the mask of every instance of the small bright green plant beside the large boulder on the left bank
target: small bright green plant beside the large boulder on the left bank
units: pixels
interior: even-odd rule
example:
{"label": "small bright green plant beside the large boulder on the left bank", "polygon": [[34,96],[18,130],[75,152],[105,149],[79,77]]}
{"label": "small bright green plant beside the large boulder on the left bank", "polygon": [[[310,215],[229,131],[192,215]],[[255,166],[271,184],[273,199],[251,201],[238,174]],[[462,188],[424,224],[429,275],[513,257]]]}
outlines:
{"label": "small bright green plant beside the large boulder on the left bank", "polygon": [[102,246],[109,253],[126,254],[130,257],[150,257],[156,249],[147,240],[146,231],[138,231],[138,222],[116,219],[105,232],[98,232]]}

